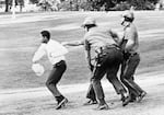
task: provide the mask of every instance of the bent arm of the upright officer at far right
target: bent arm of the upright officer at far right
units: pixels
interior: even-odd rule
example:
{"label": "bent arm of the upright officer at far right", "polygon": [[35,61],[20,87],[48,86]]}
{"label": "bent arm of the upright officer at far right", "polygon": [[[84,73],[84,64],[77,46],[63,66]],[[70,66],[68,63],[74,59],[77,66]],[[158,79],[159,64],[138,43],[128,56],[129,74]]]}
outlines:
{"label": "bent arm of the upright officer at far right", "polygon": [[134,36],[134,31],[130,30],[130,28],[127,28],[126,30],[126,39],[128,39],[127,44],[126,44],[126,51],[129,51],[132,49],[132,47],[134,46],[134,43],[136,43],[136,36]]}

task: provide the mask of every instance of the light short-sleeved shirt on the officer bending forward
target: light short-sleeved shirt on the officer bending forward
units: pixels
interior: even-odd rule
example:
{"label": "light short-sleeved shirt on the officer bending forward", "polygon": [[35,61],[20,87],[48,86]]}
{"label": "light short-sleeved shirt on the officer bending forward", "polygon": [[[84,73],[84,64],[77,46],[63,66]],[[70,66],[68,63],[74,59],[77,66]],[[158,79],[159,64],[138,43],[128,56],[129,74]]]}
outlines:
{"label": "light short-sleeved shirt on the officer bending forward", "polygon": [[116,44],[112,37],[112,31],[107,27],[93,27],[84,35],[84,48],[91,50],[91,56],[94,58],[95,50],[101,47]]}

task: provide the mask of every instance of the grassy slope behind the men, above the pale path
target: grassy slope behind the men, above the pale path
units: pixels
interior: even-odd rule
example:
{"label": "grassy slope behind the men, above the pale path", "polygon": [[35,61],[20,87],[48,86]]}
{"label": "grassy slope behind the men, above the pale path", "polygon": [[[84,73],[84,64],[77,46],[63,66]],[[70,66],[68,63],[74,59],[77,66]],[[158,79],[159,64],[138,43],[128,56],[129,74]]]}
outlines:
{"label": "grassy slope behind the men, above the pale path", "polygon": [[[73,13],[72,13],[73,14]],[[89,13],[96,16],[97,22],[121,30],[119,25],[119,12],[118,13]],[[52,38],[62,41],[73,41],[82,38],[83,30],[55,30],[65,24],[73,24],[75,27],[80,26],[86,13],[74,13],[74,15],[68,18],[67,13],[52,13],[56,16],[62,16],[62,19],[54,19],[37,22],[20,23],[20,24],[3,24],[0,25],[0,60],[1,60],[1,80],[0,89],[9,88],[31,88],[42,87],[50,70],[49,62],[46,60],[44,66],[46,72],[43,77],[35,77],[31,70],[31,58],[38,46],[39,32],[44,28],[51,28]],[[42,15],[42,14],[40,14]],[[43,14],[44,16],[45,14]],[[46,14],[48,15],[48,14]],[[51,14],[49,14],[51,15]],[[66,18],[63,18],[66,15]],[[141,64],[138,69],[139,72],[162,70],[164,65],[164,33],[160,30],[164,30],[164,12],[137,12],[136,24],[140,34],[140,50],[141,50]],[[62,30],[65,26],[62,27]],[[157,30],[157,31],[156,31]],[[61,84],[87,82],[90,79],[90,72],[85,65],[83,50],[70,51],[67,55],[68,70],[61,80]],[[45,60],[45,58],[43,59]]]}

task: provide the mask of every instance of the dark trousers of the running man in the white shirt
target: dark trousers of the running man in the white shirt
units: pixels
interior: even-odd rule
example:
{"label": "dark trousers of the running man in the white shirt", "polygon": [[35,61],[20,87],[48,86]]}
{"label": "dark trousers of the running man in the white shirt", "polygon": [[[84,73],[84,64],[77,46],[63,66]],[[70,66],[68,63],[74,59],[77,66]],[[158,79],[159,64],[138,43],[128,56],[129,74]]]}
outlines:
{"label": "dark trousers of the running man in the white shirt", "polygon": [[57,83],[60,81],[63,72],[67,69],[67,65],[65,60],[59,61],[58,64],[56,64],[46,81],[46,85],[48,88],[48,90],[52,93],[52,95],[56,96],[60,96],[61,93],[59,92],[59,90],[57,89]]}

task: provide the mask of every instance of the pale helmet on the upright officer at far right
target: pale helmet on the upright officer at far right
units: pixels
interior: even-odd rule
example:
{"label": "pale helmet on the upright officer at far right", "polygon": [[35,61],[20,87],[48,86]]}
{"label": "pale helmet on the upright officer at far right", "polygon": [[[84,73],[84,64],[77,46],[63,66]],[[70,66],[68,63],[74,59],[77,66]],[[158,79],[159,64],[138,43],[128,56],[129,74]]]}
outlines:
{"label": "pale helmet on the upright officer at far right", "polygon": [[121,14],[121,16],[125,18],[125,21],[128,21],[128,22],[132,22],[134,20],[134,15],[132,11],[125,11]]}

